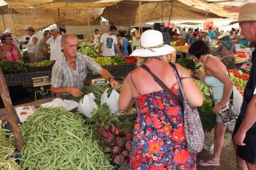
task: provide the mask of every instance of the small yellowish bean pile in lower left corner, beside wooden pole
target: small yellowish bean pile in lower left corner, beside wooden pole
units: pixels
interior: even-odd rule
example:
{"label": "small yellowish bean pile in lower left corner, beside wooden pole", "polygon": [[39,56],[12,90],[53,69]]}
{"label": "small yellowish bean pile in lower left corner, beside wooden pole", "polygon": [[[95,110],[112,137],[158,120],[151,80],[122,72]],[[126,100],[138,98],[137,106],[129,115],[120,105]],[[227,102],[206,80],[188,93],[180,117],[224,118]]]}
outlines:
{"label": "small yellowish bean pile in lower left corner, beside wooden pole", "polygon": [[7,130],[3,130],[0,126],[0,169],[20,170],[22,168],[15,162],[15,158],[7,159],[7,157],[15,154],[15,147],[12,144],[14,140],[13,134],[7,139],[5,138],[5,135],[7,134],[5,131]]}

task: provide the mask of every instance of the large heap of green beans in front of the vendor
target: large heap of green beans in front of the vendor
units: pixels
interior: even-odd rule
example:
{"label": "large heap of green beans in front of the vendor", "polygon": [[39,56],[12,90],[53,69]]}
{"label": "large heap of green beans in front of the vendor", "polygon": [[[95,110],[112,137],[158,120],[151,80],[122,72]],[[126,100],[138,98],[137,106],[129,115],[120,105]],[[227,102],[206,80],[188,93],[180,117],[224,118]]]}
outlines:
{"label": "large heap of green beans in front of the vendor", "polygon": [[113,169],[79,115],[65,108],[38,108],[21,126],[23,169]]}

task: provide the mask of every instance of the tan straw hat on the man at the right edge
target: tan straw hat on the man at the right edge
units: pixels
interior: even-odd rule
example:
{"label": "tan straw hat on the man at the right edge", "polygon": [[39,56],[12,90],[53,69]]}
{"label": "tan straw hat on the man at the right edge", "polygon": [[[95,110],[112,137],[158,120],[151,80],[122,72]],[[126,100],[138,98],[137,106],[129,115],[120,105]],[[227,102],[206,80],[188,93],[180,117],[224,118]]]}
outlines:
{"label": "tan straw hat on the man at the right edge", "polygon": [[254,22],[256,21],[256,3],[247,3],[240,9],[238,21],[230,22],[236,24],[238,22]]}

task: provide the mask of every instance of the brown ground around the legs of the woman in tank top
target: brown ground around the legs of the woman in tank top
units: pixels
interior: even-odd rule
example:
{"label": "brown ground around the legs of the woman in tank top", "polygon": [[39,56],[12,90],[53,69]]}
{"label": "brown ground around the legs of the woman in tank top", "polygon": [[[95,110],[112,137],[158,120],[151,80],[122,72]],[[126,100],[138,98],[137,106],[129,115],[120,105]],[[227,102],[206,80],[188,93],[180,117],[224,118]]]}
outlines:
{"label": "brown ground around the legs of the woman in tank top", "polygon": [[[213,133],[214,132],[211,132],[210,136],[213,136]],[[209,152],[203,149],[203,151],[197,155],[197,170],[236,170],[234,147],[232,145],[231,134],[229,132],[226,132],[224,136],[224,146],[220,156],[220,166],[203,167],[199,165],[199,161],[201,159],[210,159],[212,156],[213,150]]]}

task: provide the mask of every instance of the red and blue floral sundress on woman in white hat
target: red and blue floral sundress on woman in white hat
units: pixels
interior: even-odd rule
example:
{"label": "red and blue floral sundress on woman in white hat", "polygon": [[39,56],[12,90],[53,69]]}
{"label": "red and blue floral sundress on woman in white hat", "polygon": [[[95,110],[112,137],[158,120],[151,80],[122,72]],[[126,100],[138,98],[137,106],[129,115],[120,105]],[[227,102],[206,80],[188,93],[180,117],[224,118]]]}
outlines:
{"label": "red and blue floral sundress on woman in white hat", "polygon": [[[134,98],[138,116],[130,169],[196,169],[196,154],[187,150],[180,105],[164,90],[141,95],[133,86],[138,94]],[[180,89],[170,90],[182,100]]]}

